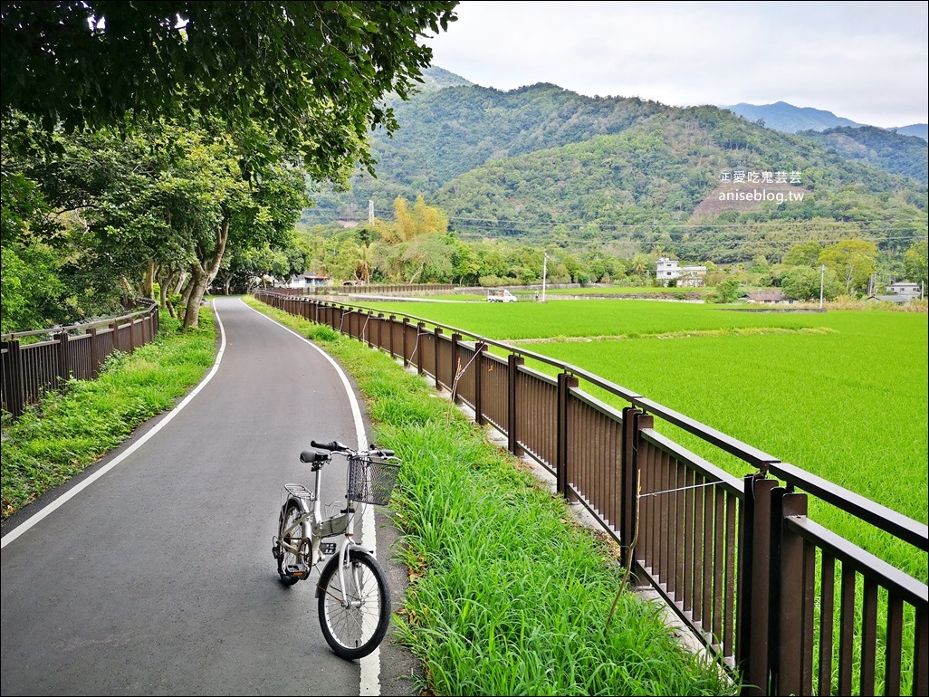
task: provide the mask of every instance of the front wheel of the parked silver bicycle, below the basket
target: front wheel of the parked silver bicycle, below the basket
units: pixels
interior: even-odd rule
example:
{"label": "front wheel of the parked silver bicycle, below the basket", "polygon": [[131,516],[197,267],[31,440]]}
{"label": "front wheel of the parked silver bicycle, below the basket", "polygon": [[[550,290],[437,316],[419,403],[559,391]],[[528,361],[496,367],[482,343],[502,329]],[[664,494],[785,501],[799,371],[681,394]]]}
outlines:
{"label": "front wheel of the parked silver bicycle, below the basket", "polygon": [[390,592],[373,555],[349,549],[341,574],[339,559],[334,554],[323,567],[316,590],[322,636],[337,656],[361,658],[374,651],[387,633]]}

